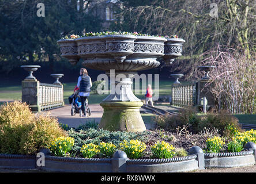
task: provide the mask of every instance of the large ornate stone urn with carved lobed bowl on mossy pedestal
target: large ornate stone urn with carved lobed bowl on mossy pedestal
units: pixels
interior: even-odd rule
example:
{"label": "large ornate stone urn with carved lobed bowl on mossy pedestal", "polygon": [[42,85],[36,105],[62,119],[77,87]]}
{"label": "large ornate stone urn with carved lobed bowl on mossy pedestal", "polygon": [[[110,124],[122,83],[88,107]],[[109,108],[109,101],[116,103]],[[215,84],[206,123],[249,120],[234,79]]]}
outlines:
{"label": "large ornate stone urn with carved lobed bowl on mossy pedestal", "polygon": [[[104,109],[99,128],[110,131],[142,132],[146,127],[140,114],[143,105],[131,90],[137,71],[156,68],[164,56],[163,37],[116,34],[62,39],[61,56],[71,64],[83,59],[86,68],[103,70],[111,80],[111,93],[101,102]],[[75,44],[76,43],[76,44]],[[181,50],[180,50],[181,52]]]}

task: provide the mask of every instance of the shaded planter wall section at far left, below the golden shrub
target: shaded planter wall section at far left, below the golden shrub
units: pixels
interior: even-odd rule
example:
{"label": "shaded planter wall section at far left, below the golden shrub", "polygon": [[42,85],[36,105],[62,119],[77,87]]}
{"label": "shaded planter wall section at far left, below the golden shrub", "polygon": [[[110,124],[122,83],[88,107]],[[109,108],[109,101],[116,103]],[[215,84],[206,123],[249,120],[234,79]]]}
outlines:
{"label": "shaded planter wall section at far left, below the golden shrub", "polygon": [[0,168],[9,168],[9,169],[36,168],[36,156],[0,154]]}

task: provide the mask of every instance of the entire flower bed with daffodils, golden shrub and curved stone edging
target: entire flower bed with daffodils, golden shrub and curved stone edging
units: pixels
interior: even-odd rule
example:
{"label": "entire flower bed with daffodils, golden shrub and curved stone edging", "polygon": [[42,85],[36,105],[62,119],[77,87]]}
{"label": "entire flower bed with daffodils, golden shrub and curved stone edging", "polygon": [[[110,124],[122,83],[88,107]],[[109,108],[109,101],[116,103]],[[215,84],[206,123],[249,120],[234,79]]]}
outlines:
{"label": "entire flower bed with daffodils, golden shrub and curved stone edging", "polygon": [[[13,106],[20,109],[22,113],[17,113],[17,110],[13,112]],[[243,167],[255,164],[255,130],[238,132],[234,127],[229,126],[228,129],[232,131],[227,138],[207,134],[193,135],[187,131],[174,133],[162,129],[140,133],[111,132],[97,129],[94,124],[92,124],[94,128],[82,126],[77,129],[61,125],[61,129],[55,119],[36,118],[29,113],[27,106],[18,102],[7,104],[6,107],[2,106],[0,110],[1,139],[3,140],[1,151],[9,153],[0,154],[0,168],[39,167],[47,171],[152,173],[186,172],[205,167]],[[27,124],[24,122],[28,120],[31,121],[31,126],[37,125],[38,120],[44,120],[44,124],[27,129]],[[10,122],[13,124],[12,127],[8,127]],[[17,125],[23,128],[16,130]],[[44,132],[45,127],[48,134]],[[64,131],[63,127],[67,131]],[[19,136],[17,133],[16,136],[7,135],[7,130],[10,128],[17,131]],[[29,130],[31,132],[29,135],[41,135],[32,136],[35,139],[29,150],[39,152],[40,148],[47,147],[51,152],[43,151],[45,157],[36,158],[35,151],[25,152],[27,155],[17,155],[22,153],[19,152],[20,147],[12,147],[14,144],[6,146],[6,143],[9,143],[7,140],[16,140],[17,145],[20,145],[20,140],[24,141],[23,144],[31,143],[24,130]],[[52,136],[51,132],[60,133]],[[47,144],[46,141],[40,141],[42,135],[47,138],[44,138]],[[205,153],[201,148],[193,147],[195,143],[201,145]],[[45,161],[42,166],[37,163],[39,159]]]}

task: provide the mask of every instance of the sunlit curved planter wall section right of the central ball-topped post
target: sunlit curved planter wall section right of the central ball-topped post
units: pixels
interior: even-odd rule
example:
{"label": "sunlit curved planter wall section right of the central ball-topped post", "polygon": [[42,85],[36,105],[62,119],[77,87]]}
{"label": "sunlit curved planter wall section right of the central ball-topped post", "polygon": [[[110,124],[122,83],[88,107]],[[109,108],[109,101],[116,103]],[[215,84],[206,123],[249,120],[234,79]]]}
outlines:
{"label": "sunlit curved planter wall section right of the central ball-topped post", "polygon": [[127,173],[178,173],[198,169],[196,155],[171,159],[127,160]]}

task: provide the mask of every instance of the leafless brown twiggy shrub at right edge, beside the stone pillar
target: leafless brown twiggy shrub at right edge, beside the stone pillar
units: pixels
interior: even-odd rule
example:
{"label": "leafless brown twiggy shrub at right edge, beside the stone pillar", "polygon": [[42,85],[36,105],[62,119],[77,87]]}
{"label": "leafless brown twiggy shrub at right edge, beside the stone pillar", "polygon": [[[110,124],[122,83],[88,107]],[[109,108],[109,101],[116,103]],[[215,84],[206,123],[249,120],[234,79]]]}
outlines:
{"label": "leafless brown twiggy shrub at right edge, beside the stone pillar", "polygon": [[235,49],[204,53],[205,65],[216,66],[206,87],[213,93],[219,110],[230,113],[256,112],[256,57],[250,59]]}

